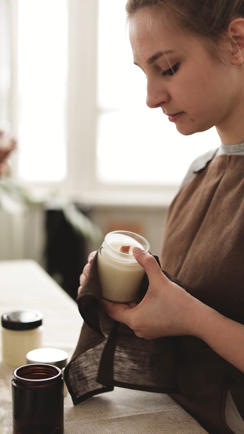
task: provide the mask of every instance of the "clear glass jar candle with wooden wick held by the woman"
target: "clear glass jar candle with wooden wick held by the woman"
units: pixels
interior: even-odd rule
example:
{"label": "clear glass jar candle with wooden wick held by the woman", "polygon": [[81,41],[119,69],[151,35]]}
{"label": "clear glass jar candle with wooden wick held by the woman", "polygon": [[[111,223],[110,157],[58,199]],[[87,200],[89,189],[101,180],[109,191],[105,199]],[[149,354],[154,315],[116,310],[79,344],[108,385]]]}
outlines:
{"label": "clear glass jar candle with wooden wick held by the woman", "polygon": [[137,298],[145,271],[132,253],[134,247],[150,248],[145,238],[134,232],[116,230],[105,236],[98,253],[103,298],[117,303]]}

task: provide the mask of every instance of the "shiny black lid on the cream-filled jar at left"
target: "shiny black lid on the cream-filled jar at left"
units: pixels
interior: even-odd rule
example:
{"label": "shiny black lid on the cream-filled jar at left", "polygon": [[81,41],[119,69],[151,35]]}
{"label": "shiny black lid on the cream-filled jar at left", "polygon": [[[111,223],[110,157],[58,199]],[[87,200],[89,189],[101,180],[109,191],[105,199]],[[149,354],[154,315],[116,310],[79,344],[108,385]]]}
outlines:
{"label": "shiny black lid on the cream-filled jar at left", "polygon": [[37,310],[17,310],[1,316],[1,325],[10,330],[32,330],[41,326],[42,314]]}

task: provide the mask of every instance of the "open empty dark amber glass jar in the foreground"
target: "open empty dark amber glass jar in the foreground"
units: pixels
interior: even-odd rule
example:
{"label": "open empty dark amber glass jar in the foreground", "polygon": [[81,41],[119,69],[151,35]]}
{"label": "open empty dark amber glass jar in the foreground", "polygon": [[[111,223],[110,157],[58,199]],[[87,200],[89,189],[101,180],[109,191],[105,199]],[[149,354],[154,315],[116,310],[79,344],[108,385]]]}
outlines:
{"label": "open empty dark amber glass jar in the foreground", "polygon": [[57,366],[16,369],[12,379],[13,434],[63,434],[63,380]]}

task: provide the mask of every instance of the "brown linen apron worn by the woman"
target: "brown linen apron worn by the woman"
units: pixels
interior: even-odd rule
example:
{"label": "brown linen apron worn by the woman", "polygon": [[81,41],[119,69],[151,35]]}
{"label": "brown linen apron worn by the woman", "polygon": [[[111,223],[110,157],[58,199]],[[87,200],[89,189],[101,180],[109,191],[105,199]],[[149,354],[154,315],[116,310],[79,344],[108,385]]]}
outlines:
{"label": "brown linen apron worn by the woman", "polygon": [[[183,186],[168,210],[161,264],[187,291],[244,324],[244,157],[221,155]],[[244,418],[244,374],[203,341],[179,337],[171,395],[210,433],[230,433],[227,390]]]}

